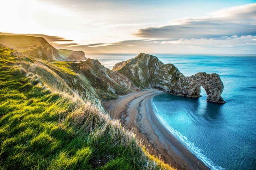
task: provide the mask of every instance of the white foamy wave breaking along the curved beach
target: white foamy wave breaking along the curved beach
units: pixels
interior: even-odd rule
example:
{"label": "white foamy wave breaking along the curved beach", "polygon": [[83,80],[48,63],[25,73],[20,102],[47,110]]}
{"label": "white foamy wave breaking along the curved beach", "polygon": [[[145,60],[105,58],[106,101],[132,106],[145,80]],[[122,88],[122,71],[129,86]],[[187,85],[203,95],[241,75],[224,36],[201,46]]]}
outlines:
{"label": "white foamy wave breaking along the curved beach", "polygon": [[175,129],[173,129],[170,125],[168,125],[165,122],[165,120],[163,118],[161,118],[159,116],[159,111],[156,108],[155,103],[153,102],[153,98],[151,99],[151,105],[153,106],[153,110],[155,112],[156,117],[159,119],[159,121],[170,131],[171,134],[173,134],[175,137],[178,138],[178,140],[180,140],[185,146],[187,146],[187,148],[194,155],[196,155],[197,158],[202,160],[202,162],[204,162],[210,169],[213,169],[213,170],[224,170],[224,168],[222,168],[221,166],[214,165],[214,163],[209,158],[207,158],[206,155],[204,155],[202,153],[202,149],[196,147],[194,145],[194,143],[188,141],[186,136],[183,136],[180,132],[178,132]]}

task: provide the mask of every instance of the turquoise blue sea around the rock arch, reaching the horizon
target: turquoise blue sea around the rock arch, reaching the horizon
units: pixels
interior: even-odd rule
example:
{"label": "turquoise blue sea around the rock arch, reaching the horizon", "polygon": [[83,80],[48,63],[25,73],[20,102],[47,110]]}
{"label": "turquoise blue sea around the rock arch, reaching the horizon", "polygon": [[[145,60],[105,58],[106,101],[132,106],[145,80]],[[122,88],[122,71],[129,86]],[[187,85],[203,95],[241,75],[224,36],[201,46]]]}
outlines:
{"label": "turquoise blue sea around the rock arch, reaching the horizon", "polygon": [[[151,103],[160,122],[210,169],[256,169],[256,55],[151,54],[174,64],[185,76],[217,73],[225,104],[170,94]],[[137,54],[91,54],[111,69]]]}

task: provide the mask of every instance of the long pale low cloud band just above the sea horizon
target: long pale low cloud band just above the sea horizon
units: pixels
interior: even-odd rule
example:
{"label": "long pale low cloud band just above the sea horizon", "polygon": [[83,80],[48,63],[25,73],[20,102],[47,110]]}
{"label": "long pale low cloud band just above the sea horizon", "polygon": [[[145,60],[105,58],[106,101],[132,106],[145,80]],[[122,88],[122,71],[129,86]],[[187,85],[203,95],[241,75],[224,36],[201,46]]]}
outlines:
{"label": "long pale low cloud band just above the sea horizon", "polygon": [[85,53],[256,53],[256,36],[220,38],[140,39],[71,46]]}

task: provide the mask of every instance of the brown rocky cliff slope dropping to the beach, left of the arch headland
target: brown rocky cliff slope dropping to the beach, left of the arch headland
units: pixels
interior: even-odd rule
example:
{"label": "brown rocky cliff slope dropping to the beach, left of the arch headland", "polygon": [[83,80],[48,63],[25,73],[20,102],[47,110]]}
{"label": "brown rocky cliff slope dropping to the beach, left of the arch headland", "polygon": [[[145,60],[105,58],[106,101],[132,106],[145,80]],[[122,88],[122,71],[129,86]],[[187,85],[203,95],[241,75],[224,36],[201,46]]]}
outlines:
{"label": "brown rocky cliff slope dropping to the beach, left of the arch headland", "polygon": [[118,95],[139,90],[126,76],[112,72],[97,60],[88,59],[84,62],[73,62],[70,67],[79,75],[78,80],[87,82],[103,100],[116,99]]}

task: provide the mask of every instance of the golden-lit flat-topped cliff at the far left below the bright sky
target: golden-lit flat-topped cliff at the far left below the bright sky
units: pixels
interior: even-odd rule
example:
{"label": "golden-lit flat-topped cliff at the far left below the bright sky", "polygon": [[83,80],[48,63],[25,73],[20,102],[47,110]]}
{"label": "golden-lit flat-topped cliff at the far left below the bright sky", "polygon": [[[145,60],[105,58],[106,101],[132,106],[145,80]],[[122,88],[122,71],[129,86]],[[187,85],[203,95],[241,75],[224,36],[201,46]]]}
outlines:
{"label": "golden-lit flat-topped cliff at the far left below the bright sky", "polygon": [[23,35],[1,35],[0,44],[23,52],[31,57],[44,60],[66,60],[59,55],[57,49],[50,45],[44,38]]}

